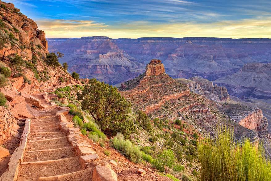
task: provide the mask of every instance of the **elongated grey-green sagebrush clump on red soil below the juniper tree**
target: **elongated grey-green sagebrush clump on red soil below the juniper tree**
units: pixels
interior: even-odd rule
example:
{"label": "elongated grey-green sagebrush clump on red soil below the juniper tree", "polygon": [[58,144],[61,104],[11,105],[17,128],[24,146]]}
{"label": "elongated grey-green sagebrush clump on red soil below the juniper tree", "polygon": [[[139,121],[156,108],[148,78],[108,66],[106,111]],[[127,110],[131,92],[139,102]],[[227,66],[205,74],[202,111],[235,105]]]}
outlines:
{"label": "elongated grey-green sagebrush clump on red soil below the juniper tree", "polygon": [[133,145],[129,140],[125,140],[121,133],[117,133],[110,142],[115,149],[125,155],[131,162],[141,162],[142,155],[138,146]]}

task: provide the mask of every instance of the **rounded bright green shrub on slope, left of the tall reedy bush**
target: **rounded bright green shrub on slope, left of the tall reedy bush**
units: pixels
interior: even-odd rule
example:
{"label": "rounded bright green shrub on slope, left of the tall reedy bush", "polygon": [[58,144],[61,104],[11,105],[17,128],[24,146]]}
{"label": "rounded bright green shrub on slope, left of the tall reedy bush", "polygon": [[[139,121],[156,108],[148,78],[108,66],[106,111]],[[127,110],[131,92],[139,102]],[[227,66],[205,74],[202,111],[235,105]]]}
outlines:
{"label": "rounded bright green shrub on slope, left of the tall reedy bush", "polygon": [[157,159],[153,162],[153,166],[160,172],[165,171],[165,166],[171,168],[175,162],[175,155],[171,149],[165,149],[158,154]]}

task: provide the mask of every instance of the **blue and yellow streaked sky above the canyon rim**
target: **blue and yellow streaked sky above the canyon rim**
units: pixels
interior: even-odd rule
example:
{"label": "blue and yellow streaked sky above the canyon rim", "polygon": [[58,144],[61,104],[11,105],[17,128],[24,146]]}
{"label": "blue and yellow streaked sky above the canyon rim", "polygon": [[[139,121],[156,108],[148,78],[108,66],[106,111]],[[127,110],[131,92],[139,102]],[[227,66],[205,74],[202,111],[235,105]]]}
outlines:
{"label": "blue and yellow streaked sky above the canyon rim", "polygon": [[271,0],[4,0],[48,38],[271,38]]}

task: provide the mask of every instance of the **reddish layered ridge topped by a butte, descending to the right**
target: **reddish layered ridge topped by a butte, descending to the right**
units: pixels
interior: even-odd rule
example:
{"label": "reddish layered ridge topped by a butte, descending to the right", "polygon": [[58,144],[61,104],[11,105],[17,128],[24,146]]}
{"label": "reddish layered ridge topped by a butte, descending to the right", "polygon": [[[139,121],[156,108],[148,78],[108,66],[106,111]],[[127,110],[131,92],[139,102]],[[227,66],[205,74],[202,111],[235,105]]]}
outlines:
{"label": "reddish layered ridge topped by a butte, descending to the right", "polygon": [[[269,154],[270,135],[267,130],[267,119],[260,109],[211,101],[205,96],[190,92],[188,85],[178,83],[161,70],[164,70],[163,64],[158,60],[152,60],[144,74],[119,87],[121,94],[132,102],[135,109],[143,110],[153,119],[181,119],[190,126],[191,131],[197,131],[202,135],[213,135],[217,125],[227,124],[234,127],[240,140],[248,137],[254,142],[268,143],[266,150]],[[201,84],[203,92],[212,91],[213,94],[228,98],[225,91],[227,89],[217,88],[218,86],[213,86],[212,82],[198,77],[193,80],[202,80],[192,85]],[[187,82],[191,83],[190,80]],[[199,90],[197,89],[198,92]]]}

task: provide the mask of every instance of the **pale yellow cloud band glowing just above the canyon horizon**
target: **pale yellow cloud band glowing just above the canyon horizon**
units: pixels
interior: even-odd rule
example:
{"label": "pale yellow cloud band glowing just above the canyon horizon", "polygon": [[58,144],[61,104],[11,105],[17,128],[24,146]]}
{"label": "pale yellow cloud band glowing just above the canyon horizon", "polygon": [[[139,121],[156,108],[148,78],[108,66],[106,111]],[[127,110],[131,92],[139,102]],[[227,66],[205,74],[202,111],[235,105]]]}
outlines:
{"label": "pale yellow cloud band glowing just above the canyon horizon", "polygon": [[[138,37],[227,37],[227,38],[271,38],[271,18],[220,21],[214,23],[196,22],[176,24],[155,24],[135,21],[118,26],[107,26],[92,21],[55,20],[48,26],[47,37],[108,36],[111,38]],[[41,22],[39,22],[41,23]],[[44,24],[45,25],[45,24]],[[44,26],[42,25],[42,26]]]}

